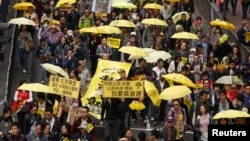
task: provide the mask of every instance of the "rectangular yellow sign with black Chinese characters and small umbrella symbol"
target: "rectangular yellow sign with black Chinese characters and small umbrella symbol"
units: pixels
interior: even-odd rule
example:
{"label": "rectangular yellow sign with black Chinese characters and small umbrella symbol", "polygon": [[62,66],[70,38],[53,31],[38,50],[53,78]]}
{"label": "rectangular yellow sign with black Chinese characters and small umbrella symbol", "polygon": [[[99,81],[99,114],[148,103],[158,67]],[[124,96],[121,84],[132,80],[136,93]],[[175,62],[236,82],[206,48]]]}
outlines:
{"label": "rectangular yellow sign with black Chinese characters and small umbrella symbol", "polygon": [[141,98],[144,96],[143,81],[104,81],[102,97]]}

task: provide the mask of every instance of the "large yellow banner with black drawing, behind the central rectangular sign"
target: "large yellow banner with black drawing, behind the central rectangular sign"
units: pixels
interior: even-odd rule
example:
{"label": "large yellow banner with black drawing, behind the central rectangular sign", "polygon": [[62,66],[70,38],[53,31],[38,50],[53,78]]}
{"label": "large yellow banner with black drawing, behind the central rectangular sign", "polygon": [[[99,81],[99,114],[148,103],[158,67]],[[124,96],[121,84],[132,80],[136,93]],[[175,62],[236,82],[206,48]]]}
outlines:
{"label": "large yellow banner with black drawing, behind the central rectangular sign", "polygon": [[91,79],[89,87],[81,99],[83,105],[88,104],[88,98],[96,97],[96,101],[101,102],[100,95],[102,95],[102,83],[103,81],[113,81],[120,78],[118,71],[124,69],[128,75],[130,70],[130,63],[123,63],[117,61],[102,60],[98,61],[95,75]]}

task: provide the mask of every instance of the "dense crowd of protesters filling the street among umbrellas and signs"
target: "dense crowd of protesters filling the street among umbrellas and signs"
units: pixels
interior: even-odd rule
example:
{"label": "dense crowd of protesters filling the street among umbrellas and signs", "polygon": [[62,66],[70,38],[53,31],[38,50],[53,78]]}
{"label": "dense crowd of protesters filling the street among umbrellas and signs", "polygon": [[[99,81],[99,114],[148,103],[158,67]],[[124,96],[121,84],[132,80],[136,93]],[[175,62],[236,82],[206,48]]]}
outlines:
{"label": "dense crowd of protesters filling the street among umbrellas and signs", "polygon": [[[248,124],[248,119],[237,118],[212,120],[217,113],[229,110],[250,108],[250,55],[242,58],[239,47],[229,42],[220,27],[203,25],[200,16],[192,17],[194,3],[192,0],[152,1],[163,5],[162,10],[143,9],[151,1],[133,1],[137,9],[115,9],[110,14],[99,17],[91,11],[92,3],[79,0],[69,11],[55,8],[55,0],[34,0],[36,9],[29,7],[23,16],[33,20],[37,26],[20,26],[17,42],[20,64],[23,73],[27,73],[28,57],[24,47],[25,40],[38,38],[40,43],[35,54],[41,64],[52,63],[68,72],[70,79],[81,82],[79,99],[61,97],[53,94],[17,90],[12,108],[5,107],[0,118],[1,139],[4,141],[95,141],[95,126],[89,115],[89,107],[82,105],[80,99],[88,89],[91,77],[95,74],[98,59],[131,63],[129,72],[119,71],[120,80],[131,80],[136,75],[145,75],[161,93],[171,86],[163,75],[180,73],[193,83],[200,84],[200,89],[193,89],[185,98],[162,100],[160,107],[154,106],[145,93],[140,99],[146,108],[138,113],[129,108],[132,100],[126,98],[107,98],[102,101],[100,126],[105,127],[105,141],[181,141],[185,131],[194,131],[195,141],[207,141],[209,124]],[[174,21],[171,17],[186,11],[181,18]],[[167,22],[167,27],[145,25],[141,21],[147,18],[159,18]],[[120,35],[99,35],[80,33],[79,29],[108,25],[111,21],[125,19],[136,24],[135,28],[121,28]],[[58,20],[58,25],[51,24]],[[243,26],[248,28],[248,22]],[[209,31],[206,33],[206,31]],[[191,32],[199,39],[172,39],[174,33]],[[240,35],[240,34],[239,34]],[[130,60],[129,54],[120,53],[118,49],[107,45],[107,37],[121,39],[120,46],[137,46],[169,52],[171,59],[158,59],[147,63],[143,58]],[[226,40],[221,40],[221,38]],[[243,35],[242,35],[242,39]],[[240,42],[244,42],[241,41]],[[248,42],[245,42],[248,44]],[[189,58],[193,55],[193,58]],[[187,58],[187,61],[183,61]],[[243,60],[242,60],[243,59]],[[39,75],[39,74],[38,74]],[[242,78],[245,85],[221,85],[216,80],[221,76],[232,75]],[[50,74],[41,67],[40,82],[48,83]],[[20,85],[27,83],[20,81]],[[178,84],[176,84],[178,85]],[[185,100],[191,101],[187,104]],[[59,102],[59,104],[58,104]],[[19,109],[20,105],[23,105]],[[55,106],[57,105],[57,106]],[[14,115],[17,115],[17,120]],[[18,122],[17,122],[18,121]],[[145,132],[134,137],[130,129],[134,122],[147,126],[161,125],[157,130]],[[136,139],[137,138],[137,139]]]}

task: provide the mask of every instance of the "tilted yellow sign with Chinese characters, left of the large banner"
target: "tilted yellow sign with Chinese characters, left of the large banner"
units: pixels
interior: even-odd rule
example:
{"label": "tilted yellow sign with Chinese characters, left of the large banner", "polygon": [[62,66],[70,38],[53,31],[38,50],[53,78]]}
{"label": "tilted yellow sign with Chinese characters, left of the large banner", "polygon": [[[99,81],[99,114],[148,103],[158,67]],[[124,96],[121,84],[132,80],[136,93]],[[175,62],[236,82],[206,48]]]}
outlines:
{"label": "tilted yellow sign with Chinese characters, left of the large banner", "polygon": [[51,75],[49,86],[52,87],[57,94],[73,98],[79,97],[80,81]]}

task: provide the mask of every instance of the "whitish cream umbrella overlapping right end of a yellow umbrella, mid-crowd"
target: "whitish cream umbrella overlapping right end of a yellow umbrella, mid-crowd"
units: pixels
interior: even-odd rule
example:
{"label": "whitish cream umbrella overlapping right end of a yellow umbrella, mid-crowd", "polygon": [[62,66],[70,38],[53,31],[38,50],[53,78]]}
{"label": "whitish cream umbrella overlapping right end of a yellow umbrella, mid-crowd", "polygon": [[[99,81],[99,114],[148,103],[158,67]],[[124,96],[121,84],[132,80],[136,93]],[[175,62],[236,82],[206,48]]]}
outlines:
{"label": "whitish cream umbrella overlapping right end of a yellow umbrella, mid-crowd", "polygon": [[163,60],[167,60],[167,59],[169,59],[171,57],[172,56],[166,51],[153,51],[153,52],[149,53],[148,57],[144,57],[144,59],[148,63],[155,63],[160,58],[163,59]]}

